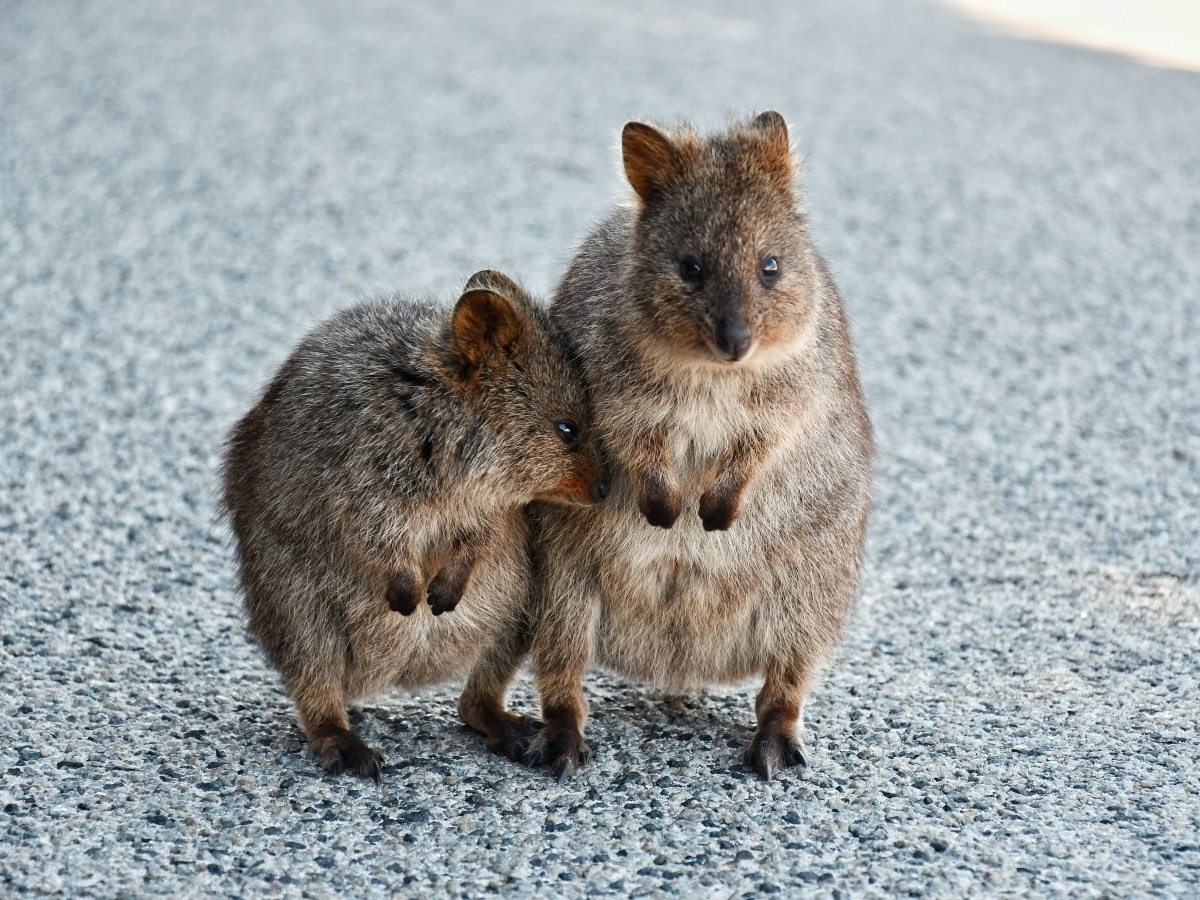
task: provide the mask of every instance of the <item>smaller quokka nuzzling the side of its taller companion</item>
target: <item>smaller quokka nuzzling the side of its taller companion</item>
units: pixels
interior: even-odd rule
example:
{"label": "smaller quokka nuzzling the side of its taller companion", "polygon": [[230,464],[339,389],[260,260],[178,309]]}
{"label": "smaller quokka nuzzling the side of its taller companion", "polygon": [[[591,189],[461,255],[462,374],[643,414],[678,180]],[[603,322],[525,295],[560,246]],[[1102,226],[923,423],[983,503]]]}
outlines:
{"label": "smaller quokka nuzzling the side of its taller companion", "polygon": [[504,710],[528,637],[522,505],[606,496],[589,425],[546,311],[484,271],[452,310],[335,316],[233,430],[224,506],[250,630],[326,770],[379,779],[348,702],[473,664],[463,719],[523,758],[538,722]]}

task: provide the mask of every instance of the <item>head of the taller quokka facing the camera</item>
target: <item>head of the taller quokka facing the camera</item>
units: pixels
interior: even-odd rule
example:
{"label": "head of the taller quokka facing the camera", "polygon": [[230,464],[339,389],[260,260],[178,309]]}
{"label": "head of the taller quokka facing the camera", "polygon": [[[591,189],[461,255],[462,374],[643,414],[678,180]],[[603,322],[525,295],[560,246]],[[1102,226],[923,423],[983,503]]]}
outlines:
{"label": "head of the taller quokka facing the camera", "polygon": [[629,288],[646,346],[718,366],[793,352],[817,299],[784,116],[707,138],[629,122],[622,157],[638,200]]}

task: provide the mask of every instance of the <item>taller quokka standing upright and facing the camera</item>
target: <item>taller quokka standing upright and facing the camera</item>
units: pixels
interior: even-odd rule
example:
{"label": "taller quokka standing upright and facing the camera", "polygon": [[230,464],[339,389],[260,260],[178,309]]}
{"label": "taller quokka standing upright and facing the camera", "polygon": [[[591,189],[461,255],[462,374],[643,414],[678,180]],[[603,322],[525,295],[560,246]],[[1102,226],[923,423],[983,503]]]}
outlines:
{"label": "taller quokka standing upright and facing the camera", "polygon": [[769,779],[806,764],[805,695],[857,590],[872,444],[846,318],[781,115],[707,138],[630,122],[622,152],[636,204],[551,307],[613,484],[592,515],[532,508],[528,762],[563,778],[590,757],[599,664],[676,689],[764,678],[743,760]]}

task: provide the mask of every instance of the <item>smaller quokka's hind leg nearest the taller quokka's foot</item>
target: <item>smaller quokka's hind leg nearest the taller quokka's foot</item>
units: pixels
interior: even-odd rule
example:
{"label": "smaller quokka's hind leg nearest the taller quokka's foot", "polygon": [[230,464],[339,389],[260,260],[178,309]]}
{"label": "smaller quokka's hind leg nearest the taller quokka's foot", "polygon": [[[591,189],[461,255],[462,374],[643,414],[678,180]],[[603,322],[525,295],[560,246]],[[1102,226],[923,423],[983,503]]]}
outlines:
{"label": "smaller quokka's hind leg nearest the taller quokka's foot", "polygon": [[526,629],[503,635],[479,658],[458,698],[458,715],[487,739],[487,749],[514,762],[524,762],[529,742],[541,722],[510,713],[505,706],[509,685],[529,648]]}

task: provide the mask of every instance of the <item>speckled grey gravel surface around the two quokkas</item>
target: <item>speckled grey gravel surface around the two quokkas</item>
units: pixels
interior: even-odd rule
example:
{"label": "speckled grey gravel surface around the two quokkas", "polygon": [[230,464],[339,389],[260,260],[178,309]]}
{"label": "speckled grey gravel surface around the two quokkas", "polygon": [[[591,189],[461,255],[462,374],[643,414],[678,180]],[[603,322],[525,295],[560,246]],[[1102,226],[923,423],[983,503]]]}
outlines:
{"label": "speckled grey gravel surface around the two quokkas", "polygon": [[[778,108],[881,448],[812,767],[754,685],[588,682],[596,758],[457,685],[323,776],[247,642],[220,444],[300,335],[548,292],[632,116]],[[1200,76],[935,6],[0,5],[0,888],[1194,895]],[[533,708],[528,683],[516,704]]]}

